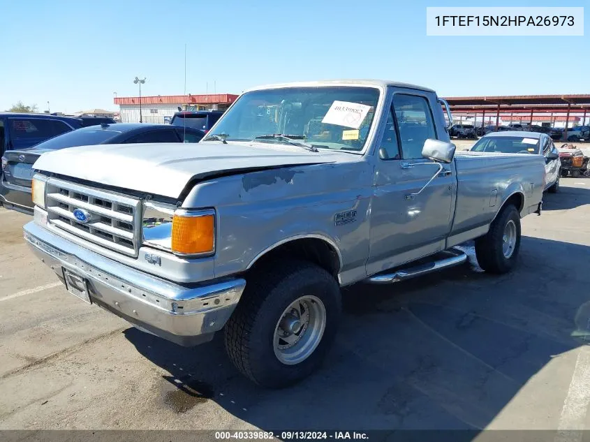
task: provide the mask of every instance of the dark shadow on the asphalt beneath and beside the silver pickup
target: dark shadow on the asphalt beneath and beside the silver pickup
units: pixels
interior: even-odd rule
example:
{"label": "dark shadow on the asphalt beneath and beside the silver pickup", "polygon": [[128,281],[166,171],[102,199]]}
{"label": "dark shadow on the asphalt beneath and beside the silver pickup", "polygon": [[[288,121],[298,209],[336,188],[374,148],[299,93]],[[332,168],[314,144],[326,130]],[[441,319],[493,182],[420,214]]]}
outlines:
{"label": "dark shadow on the asphalt beneath and beside the silver pickup", "polygon": [[[348,288],[323,368],[285,390],[263,390],[242,377],[221,334],[195,348],[133,328],[125,334],[170,374],[160,380],[158,403],[187,418],[198,420],[199,405],[214,401],[268,431],[478,430],[554,356],[585,343],[589,253],[587,246],[523,237],[511,274],[464,265],[392,286]],[[579,327],[582,338],[573,338]]]}

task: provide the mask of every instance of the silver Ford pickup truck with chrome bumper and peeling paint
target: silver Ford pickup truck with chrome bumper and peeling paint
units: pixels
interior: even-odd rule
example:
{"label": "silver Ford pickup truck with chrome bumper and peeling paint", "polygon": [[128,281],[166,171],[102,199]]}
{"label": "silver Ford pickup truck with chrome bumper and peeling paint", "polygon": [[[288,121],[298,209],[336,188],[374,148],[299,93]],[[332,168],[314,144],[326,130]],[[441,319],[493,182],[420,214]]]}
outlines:
{"label": "silver Ford pickup truck with chrome bumper and peeling paint", "polygon": [[67,290],[190,346],[224,329],[259,385],[310,374],[340,288],[452,265],[508,272],[544,163],[455,154],[430,89],[346,80],[246,91],[198,144],[73,147],[35,163],[24,237]]}

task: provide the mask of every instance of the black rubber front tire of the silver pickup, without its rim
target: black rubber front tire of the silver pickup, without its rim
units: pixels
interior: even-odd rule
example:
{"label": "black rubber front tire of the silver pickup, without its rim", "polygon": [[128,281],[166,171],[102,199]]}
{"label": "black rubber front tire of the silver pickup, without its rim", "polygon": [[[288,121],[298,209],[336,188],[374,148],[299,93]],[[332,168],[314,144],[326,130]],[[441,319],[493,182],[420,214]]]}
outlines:
{"label": "black rubber front tire of the silver pickup, without its rim", "polygon": [[[274,353],[274,333],[283,311],[299,297],[313,295],[325,307],[325,328],[313,353],[297,364],[283,364]],[[235,367],[254,383],[283,388],[309,376],[329,350],[341,314],[336,279],[317,265],[284,260],[246,277],[246,289],[226,324],[226,351]]]}

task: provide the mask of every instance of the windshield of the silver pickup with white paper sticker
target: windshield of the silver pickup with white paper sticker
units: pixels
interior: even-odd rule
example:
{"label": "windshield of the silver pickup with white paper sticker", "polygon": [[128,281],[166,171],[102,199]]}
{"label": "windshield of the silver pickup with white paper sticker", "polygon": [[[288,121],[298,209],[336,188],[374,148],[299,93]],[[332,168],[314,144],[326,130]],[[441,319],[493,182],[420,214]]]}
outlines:
{"label": "windshield of the silver pickup with white paper sticker", "polygon": [[223,134],[227,141],[288,144],[288,139],[278,136],[286,135],[318,149],[360,152],[378,99],[379,90],[374,87],[286,87],[246,92],[210,135]]}

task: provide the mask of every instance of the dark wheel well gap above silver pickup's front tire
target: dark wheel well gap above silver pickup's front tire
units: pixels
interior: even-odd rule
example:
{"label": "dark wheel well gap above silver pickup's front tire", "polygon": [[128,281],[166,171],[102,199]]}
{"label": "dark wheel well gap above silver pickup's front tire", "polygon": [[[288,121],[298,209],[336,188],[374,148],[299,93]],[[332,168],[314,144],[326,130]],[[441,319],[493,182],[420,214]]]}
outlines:
{"label": "dark wheel well gap above silver pickup's front tire", "polygon": [[275,263],[283,258],[299,258],[310,261],[330,272],[334,277],[340,271],[340,256],[334,246],[319,238],[301,238],[276,246],[260,256],[251,269],[259,269],[268,263]]}

